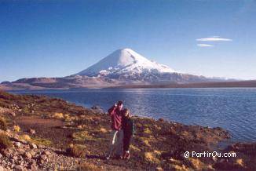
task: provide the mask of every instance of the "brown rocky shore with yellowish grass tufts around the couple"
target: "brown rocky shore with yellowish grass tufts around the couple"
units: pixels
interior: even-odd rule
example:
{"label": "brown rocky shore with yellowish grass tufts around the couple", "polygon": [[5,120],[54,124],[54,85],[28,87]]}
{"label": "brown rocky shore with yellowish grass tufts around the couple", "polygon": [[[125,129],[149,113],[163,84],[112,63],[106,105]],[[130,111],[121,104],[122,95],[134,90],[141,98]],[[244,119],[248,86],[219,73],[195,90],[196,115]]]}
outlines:
{"label": "brown rocky shore with yellowish grass tufts around the couple", "polygon": [[[110,117],[65,100],[0,91],[2,170],[256,170],[256,144],[216,144],[221,128],[186,126],[134,116],[136,136],[129,161],[104,160]],[[185,151],[235,152],[235,158],[185,158]]]}

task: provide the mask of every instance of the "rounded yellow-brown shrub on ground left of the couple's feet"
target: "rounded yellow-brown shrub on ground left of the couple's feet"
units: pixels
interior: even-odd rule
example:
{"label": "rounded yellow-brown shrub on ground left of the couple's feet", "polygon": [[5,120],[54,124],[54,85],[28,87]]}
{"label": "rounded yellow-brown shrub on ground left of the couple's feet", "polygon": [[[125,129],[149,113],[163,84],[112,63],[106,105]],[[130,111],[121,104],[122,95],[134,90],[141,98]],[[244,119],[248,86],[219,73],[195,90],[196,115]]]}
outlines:
{"label": "rounded yellow-brown shrub on ground left of the couple's feet", "polygon": [[67,148],[68,155],[71,155],[73,157],[77,158],[84,158],[86,157],[86,146],[81,144],[70,144]]}

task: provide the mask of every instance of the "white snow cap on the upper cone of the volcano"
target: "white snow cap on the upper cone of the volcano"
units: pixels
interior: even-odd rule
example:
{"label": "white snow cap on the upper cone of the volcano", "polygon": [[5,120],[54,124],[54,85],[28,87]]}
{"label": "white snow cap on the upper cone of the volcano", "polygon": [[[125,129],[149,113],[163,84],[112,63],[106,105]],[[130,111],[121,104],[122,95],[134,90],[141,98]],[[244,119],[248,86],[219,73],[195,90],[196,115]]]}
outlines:
{"label": "white snow cap on the upper cone of the volcano", "polygon": [[119,49],[106,56],[97,64],[93,64],[77,75],[107,76],[107,75],[144,75],[145,73],[163,74],[175,71],[162,64],[148,60],[132,49]]}

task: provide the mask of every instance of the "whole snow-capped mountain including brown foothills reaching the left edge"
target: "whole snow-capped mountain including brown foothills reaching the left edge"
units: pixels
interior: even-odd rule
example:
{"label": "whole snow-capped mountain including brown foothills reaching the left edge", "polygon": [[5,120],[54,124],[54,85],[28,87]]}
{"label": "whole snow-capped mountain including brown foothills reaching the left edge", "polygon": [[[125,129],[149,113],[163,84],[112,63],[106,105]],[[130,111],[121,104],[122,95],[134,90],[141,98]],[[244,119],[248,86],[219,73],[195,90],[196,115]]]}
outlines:
{"label": "whole snow-capped mountain including brown foothills reaching the left edge", "polygon": [[0,89],[105,88],[224,81],[229,80],[177,72],[171,67],[148,60],[132,49],[118,49],[75,75],[60,78],[21,78],[15,82],[4,82]]}

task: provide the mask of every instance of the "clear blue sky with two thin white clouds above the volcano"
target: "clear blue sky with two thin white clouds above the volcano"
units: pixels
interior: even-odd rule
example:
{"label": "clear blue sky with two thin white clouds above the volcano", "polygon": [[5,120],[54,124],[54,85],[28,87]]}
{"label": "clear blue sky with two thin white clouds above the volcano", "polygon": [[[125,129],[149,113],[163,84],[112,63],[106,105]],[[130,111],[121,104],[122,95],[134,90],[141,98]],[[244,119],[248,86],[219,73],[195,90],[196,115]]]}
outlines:
{"label": "clear blue sky with two thin white clouds above the volcano", "polygon": [[256,1],[0,0],[0,82],[72,75],[121,48],[176,71],[256,79]]}

